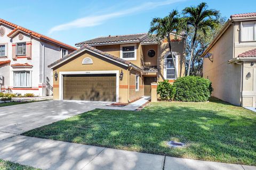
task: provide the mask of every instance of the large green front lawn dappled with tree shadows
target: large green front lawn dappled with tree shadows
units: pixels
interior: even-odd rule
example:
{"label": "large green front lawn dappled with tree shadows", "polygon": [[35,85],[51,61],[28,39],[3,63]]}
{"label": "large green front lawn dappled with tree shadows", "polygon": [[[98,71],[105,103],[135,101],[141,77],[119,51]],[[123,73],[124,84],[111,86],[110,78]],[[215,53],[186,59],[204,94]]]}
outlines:
{"label": "large green front lawn dappled with tree shadows", "polygon": [[[141,111],[96,109],[27,136],[159,155],[256,165],[256,114],[217,99],[157,102]],[[169,148],[167,141],[185,142]]]}

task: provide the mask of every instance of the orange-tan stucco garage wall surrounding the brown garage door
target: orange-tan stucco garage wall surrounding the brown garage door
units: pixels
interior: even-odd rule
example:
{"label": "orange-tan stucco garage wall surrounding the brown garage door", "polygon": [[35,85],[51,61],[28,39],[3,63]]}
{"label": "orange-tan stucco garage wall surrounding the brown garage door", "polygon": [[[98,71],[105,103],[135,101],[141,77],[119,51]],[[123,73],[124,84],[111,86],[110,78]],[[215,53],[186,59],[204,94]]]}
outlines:
{"label": "orange-tan stucco garage wall surrounding the brown garage door", "polygon": [[[93,64],[82,64],[84,58],[89,57],[92,59]],[[127,103],[134,99],[140,98],[144,94],[144,89],[142,88],[143,81],[140,73],[135,70],[128,70],[127,67],[118,64],[116,62],[110,61],[108,59],[104,59],[101,56],[96,54],[85,52],[84,54],[76,56],[74,59],[70,59],[69,61],[61,64],[58,68],[53,70],[53,75],[55,71],[106,71],[106,70],[118,70],[119,73],[123,71],[123,79],[119,80],[119,75],[117,75],[117,79],[119,80],[119,102]],[[138,92],[135,92],[135,74],[140,75],[140,86]],[[130,76],[130,90],[128,88],[128,82]],[[59,100],[59,79],[55,81],[53,80],[53,99]],[[129,94],[130,93],[130,99]]]}

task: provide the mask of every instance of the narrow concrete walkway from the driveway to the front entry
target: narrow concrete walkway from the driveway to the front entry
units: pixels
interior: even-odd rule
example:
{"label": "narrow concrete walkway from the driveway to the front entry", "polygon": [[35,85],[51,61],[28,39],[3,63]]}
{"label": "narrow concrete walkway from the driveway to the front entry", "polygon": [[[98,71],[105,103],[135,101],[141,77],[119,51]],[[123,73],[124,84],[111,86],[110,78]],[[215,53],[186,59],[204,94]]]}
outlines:
{"label": "narrow concrete walkway from the driveway to the front entry", "polygon": [[147,103],[150,100],[150,96],[144,96],[143,98],[127,104],[124,107],[113,107],[113,106],[104,106],[101,109],[111,109],[111,110],[137,110],[139,107],[143,106],[143,104]]}

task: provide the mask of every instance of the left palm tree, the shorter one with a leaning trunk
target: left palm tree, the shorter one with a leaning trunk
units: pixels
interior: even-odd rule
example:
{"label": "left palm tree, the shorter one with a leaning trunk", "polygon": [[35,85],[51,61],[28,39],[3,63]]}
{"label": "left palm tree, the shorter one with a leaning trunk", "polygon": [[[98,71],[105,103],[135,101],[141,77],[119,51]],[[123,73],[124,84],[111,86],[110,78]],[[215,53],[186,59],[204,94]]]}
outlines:
{"label": "left palm tree, the shorter one with a leaning trunk", "polygon": [[174,62],[174,57],[172,53],[172,45],[171,45],[171,38],[170,34],[175,33],[175,36],[177,36],[180,33],[180,18],[179,18],[179,12],[177,10],[173,10],[170,12],[169,15],[167,15],[164,18],[153,18],[153,20],[150,23],[150,29],[148,33],[156,37],[158,42],[163,41],[163,39],[167,38],[168,44],[169,44],[169,50],[171,52],[172,61],[174,64],[174,70],[175,70],[175,77],[178,76],[177,70],[176,70],[176,64]]}

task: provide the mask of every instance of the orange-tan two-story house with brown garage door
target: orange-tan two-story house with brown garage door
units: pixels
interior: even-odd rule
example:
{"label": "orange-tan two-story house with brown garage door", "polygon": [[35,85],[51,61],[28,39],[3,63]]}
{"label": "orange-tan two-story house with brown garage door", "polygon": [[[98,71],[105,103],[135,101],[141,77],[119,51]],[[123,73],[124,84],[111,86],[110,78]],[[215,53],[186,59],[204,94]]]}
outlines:
{"label": "orange-tan two-story house with brown garage door", "polygon": [[[180,77],[185,74],[185,37],[171,36]],[[166,41],[158,44],[148,34],[98,37],[76,46],[77,51],[49,66],[54,99],[127,103],[150,95],[151,83],[177,78]]]}

